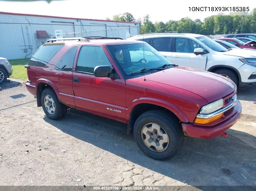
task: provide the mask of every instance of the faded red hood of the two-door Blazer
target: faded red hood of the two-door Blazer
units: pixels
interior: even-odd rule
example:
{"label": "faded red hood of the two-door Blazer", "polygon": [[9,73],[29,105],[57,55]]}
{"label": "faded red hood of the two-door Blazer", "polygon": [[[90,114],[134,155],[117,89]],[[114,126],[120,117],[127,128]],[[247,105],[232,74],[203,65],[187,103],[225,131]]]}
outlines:
{"label": "faded red hood of the two-door Blazer", "polygon": [[[145,75],[146,80],[174,86],[203,97],[208,103],[235,91],[236,85],[221,75],[183,66]],[[168,88],[166,88],[168,89]]]}

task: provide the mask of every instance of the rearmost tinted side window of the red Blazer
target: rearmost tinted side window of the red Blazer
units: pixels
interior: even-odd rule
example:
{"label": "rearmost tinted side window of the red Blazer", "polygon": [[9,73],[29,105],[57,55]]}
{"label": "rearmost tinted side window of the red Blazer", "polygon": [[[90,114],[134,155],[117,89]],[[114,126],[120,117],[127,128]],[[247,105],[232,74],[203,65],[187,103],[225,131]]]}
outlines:
{"label": "rearmost tinted side window of the red Blazer", "polygon": [[46,64],[52,59],[52,57],[63,47],[64,45],[50,45],[42,46],[31,57],[28,62],[29,66],[45,67]]}

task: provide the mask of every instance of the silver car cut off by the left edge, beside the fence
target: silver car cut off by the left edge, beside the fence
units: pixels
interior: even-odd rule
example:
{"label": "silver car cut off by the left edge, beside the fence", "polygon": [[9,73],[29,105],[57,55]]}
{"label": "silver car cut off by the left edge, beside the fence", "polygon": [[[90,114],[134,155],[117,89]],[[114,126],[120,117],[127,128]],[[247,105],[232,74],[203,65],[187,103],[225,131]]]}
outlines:
{"label": "silver car cut off by the left edge, beside the fence", "polygon": [[0,84],[5,83],[10,75],[12,75],[12,65],[6,58],[0,57]]}

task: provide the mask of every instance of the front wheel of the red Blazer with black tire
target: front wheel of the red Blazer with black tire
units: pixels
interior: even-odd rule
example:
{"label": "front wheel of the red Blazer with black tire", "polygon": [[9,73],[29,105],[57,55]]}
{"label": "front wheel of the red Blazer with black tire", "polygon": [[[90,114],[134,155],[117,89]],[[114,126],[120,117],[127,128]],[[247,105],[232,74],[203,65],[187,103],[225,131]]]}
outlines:
{"label": "front wheel of the red Blazer with black tire", "polygon": [[[149,128],[147,126],[148,124]],[[157,127],[157,125],[160,126],[161,134],[157,132],[156,135],[165,134],[165,136],[160,136],[161,139],[163,139],[164,137],[166,138],[166,135],[168,137],[168,144],[164,143],[165,146],[162,146],[164,150],[161,151],[156,151],[156,148],[153,146],[149,148],[143,140],[144,138],[146,139],[148,138],[148,136],[151,136],[150,131],[152,130],[152,128],[154,129],[153,133],[155,133],[155,127]],[[147,131],[147,129],[150,130],[147,131],[148,135],[143,133],[144,128],[145,131]],[[173,158],[182,147],[184,142],[184,133],[182,131],[179,121],[174,116],[171,116],[162,110],[149,110],[141,114],[141,116],[139,116],[138,119],[135,121],[133,135],[135,142],[137,143],[141,151],[143,151],[148,157],[159,161],[165,161]],[[151,141],[152,138],[149,138],[148,140]],[[153,141],[155,142],[156,140]],[[160,140],[156,144],[158,143],[160,143]]]}

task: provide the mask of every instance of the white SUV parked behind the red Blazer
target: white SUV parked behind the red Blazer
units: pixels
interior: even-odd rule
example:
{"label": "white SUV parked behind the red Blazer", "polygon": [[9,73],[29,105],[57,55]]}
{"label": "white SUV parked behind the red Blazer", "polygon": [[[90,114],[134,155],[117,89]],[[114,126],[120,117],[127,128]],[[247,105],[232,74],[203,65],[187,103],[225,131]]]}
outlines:
{"label": "white SUV parked behind the red Blazer", "polygon": [[172,63],[223,75],[237,86],[256,86],[256,56],[226,49],[214,40],[191,33],[150,33],[129,37],[147,42]]}

